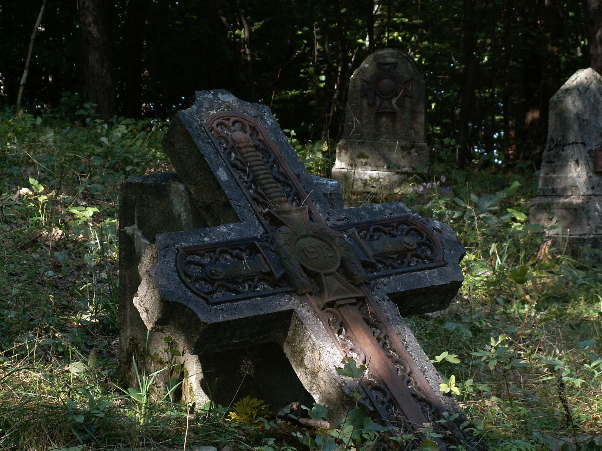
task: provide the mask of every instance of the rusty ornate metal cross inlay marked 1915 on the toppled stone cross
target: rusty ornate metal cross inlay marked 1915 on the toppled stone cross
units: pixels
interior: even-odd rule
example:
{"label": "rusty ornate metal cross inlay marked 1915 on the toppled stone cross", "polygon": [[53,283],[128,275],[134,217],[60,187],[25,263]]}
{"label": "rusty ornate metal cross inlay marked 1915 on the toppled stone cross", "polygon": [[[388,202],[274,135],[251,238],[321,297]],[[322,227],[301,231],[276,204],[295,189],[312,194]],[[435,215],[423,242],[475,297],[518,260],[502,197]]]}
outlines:
{"label": "rusty ornate metal cross inlay marked 1915 on the toppled stone cross", "polygon": [[201,124],[265,233],[178,248],[181,281],[209,305],[294,292],[340,353],[368,366],[361,387],[391,425],[434,425],[440,449],[464,440],[370,292],[385,275],[444,265],[440,242],[409,216],[329,227],[258,119],[218,112]]}

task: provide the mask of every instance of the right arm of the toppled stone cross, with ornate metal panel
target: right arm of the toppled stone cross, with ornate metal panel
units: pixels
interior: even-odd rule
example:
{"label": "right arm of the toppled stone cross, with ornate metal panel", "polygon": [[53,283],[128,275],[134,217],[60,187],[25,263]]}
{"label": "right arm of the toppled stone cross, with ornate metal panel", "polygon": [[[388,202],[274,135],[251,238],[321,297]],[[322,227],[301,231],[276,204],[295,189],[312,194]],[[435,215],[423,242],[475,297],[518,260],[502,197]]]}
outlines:
{"label": "right arm of the toppled stone cross, with ornate metal panel", "polygon": [[331,222],[359,254],[376,298],[403,316],[446,308],[462,285],[465,254],[451,227],[399,202],[346,209]]}

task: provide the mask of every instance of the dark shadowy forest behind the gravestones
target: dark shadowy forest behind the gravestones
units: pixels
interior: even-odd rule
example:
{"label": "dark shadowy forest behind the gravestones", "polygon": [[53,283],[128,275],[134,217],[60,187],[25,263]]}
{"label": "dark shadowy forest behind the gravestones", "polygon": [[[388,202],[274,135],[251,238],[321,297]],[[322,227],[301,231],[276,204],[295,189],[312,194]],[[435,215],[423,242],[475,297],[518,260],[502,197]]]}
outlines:
{"label": "dark shadowy forest behind the gravestones", "polygon": [[[16,103],[41,5],[0,3],[6,105]],[[350,75],[389,46],[424,72],[430,144],[447,138],[461,165],[476,157],[538,167],[550,97],[589,66],[586,8],[576,0],[49,0],[23,105],[34,112],[79,93],[105,117],[167,118],[195,90],[225,88],[269,105],[301,141],[336,140]]]}

